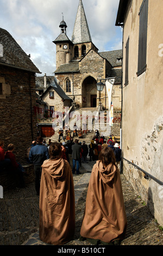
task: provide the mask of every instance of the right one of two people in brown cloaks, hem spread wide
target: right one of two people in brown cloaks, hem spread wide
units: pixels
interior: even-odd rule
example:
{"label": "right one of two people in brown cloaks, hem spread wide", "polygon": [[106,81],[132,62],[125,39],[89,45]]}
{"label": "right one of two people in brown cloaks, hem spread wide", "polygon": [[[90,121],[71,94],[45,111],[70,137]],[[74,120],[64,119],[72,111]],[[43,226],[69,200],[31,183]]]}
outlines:
{"label": "right one of two people in brown cloaks, hem spread wide", "polygon": [[120,172],[114,152],[104,147],[93,166],[87,190],[80,240],[93,244],[116,245],[127,229]]}

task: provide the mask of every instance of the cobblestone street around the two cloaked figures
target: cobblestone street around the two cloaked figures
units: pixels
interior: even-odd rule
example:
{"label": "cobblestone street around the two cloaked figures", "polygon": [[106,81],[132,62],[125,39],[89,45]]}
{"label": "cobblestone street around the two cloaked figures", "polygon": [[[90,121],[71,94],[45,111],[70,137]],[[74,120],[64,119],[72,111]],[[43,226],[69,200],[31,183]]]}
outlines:
{"label": "cobblestone street around the two cloaked figures", "polygon": [[[73,175],[76,195],[76,232],[67,245],[91,245],[79,241],[80,227],[85,207],[87,185],[95,162],[82,164],[80,175]],[[139,195],[121,174],[124,203],[127,214],[127,233],[121,245],[163,245],[163,232],[143,204]],[[39,197],[34,182],[26,188],[4,191],[0,199],[0,245],[47,245],[39,239]]]}

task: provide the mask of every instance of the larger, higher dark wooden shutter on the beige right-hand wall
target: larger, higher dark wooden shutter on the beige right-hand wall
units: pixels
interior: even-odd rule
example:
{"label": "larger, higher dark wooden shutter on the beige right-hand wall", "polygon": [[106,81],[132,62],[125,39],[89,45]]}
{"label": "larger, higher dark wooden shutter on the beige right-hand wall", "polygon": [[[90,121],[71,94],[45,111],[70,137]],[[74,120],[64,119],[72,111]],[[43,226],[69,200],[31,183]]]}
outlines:
{"label": "larger, higher dark wooden shutter on the beige right-hand wall", "polygon": [[139,52],[137,76],[141,75],[147,67],[147,27],[148,27],[148,0],[143,0],[139,13]]}

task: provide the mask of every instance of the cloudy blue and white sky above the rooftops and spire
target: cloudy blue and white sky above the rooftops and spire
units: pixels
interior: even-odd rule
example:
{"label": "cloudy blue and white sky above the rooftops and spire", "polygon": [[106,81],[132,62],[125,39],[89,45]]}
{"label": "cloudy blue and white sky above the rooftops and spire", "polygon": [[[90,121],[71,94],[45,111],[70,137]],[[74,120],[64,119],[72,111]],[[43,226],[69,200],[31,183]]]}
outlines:
{"label": "cloudy blue and white sky above the rooftops and spire", "polygon": [[[122,28],[116,27],[119,0],[82,0],[93,44],[102,51],[122,48]],[[30,54],[42,72],[55,71],[56,47],[62,13],[71,40],[79,0],[0,0],[0,27]],[[37,76],[40,76],[37,74]]]}

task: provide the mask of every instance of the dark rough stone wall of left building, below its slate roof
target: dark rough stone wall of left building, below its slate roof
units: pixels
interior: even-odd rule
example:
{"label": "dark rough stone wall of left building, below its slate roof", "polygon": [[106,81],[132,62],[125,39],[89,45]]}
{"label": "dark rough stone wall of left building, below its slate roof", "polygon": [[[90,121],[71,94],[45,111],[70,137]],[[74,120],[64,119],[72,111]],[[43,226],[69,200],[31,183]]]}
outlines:
{"label": "dark rough stone wall of left building, below its slate roof", "polygon": [[35,74],[1,66],[2,79],[10,93],[0,95],[0,139],[4,140],[5,151],[8,144],[14,144],[16,160],[26,163],[26,149],[36,137],[36,115],[33,111],[36,105]]}

